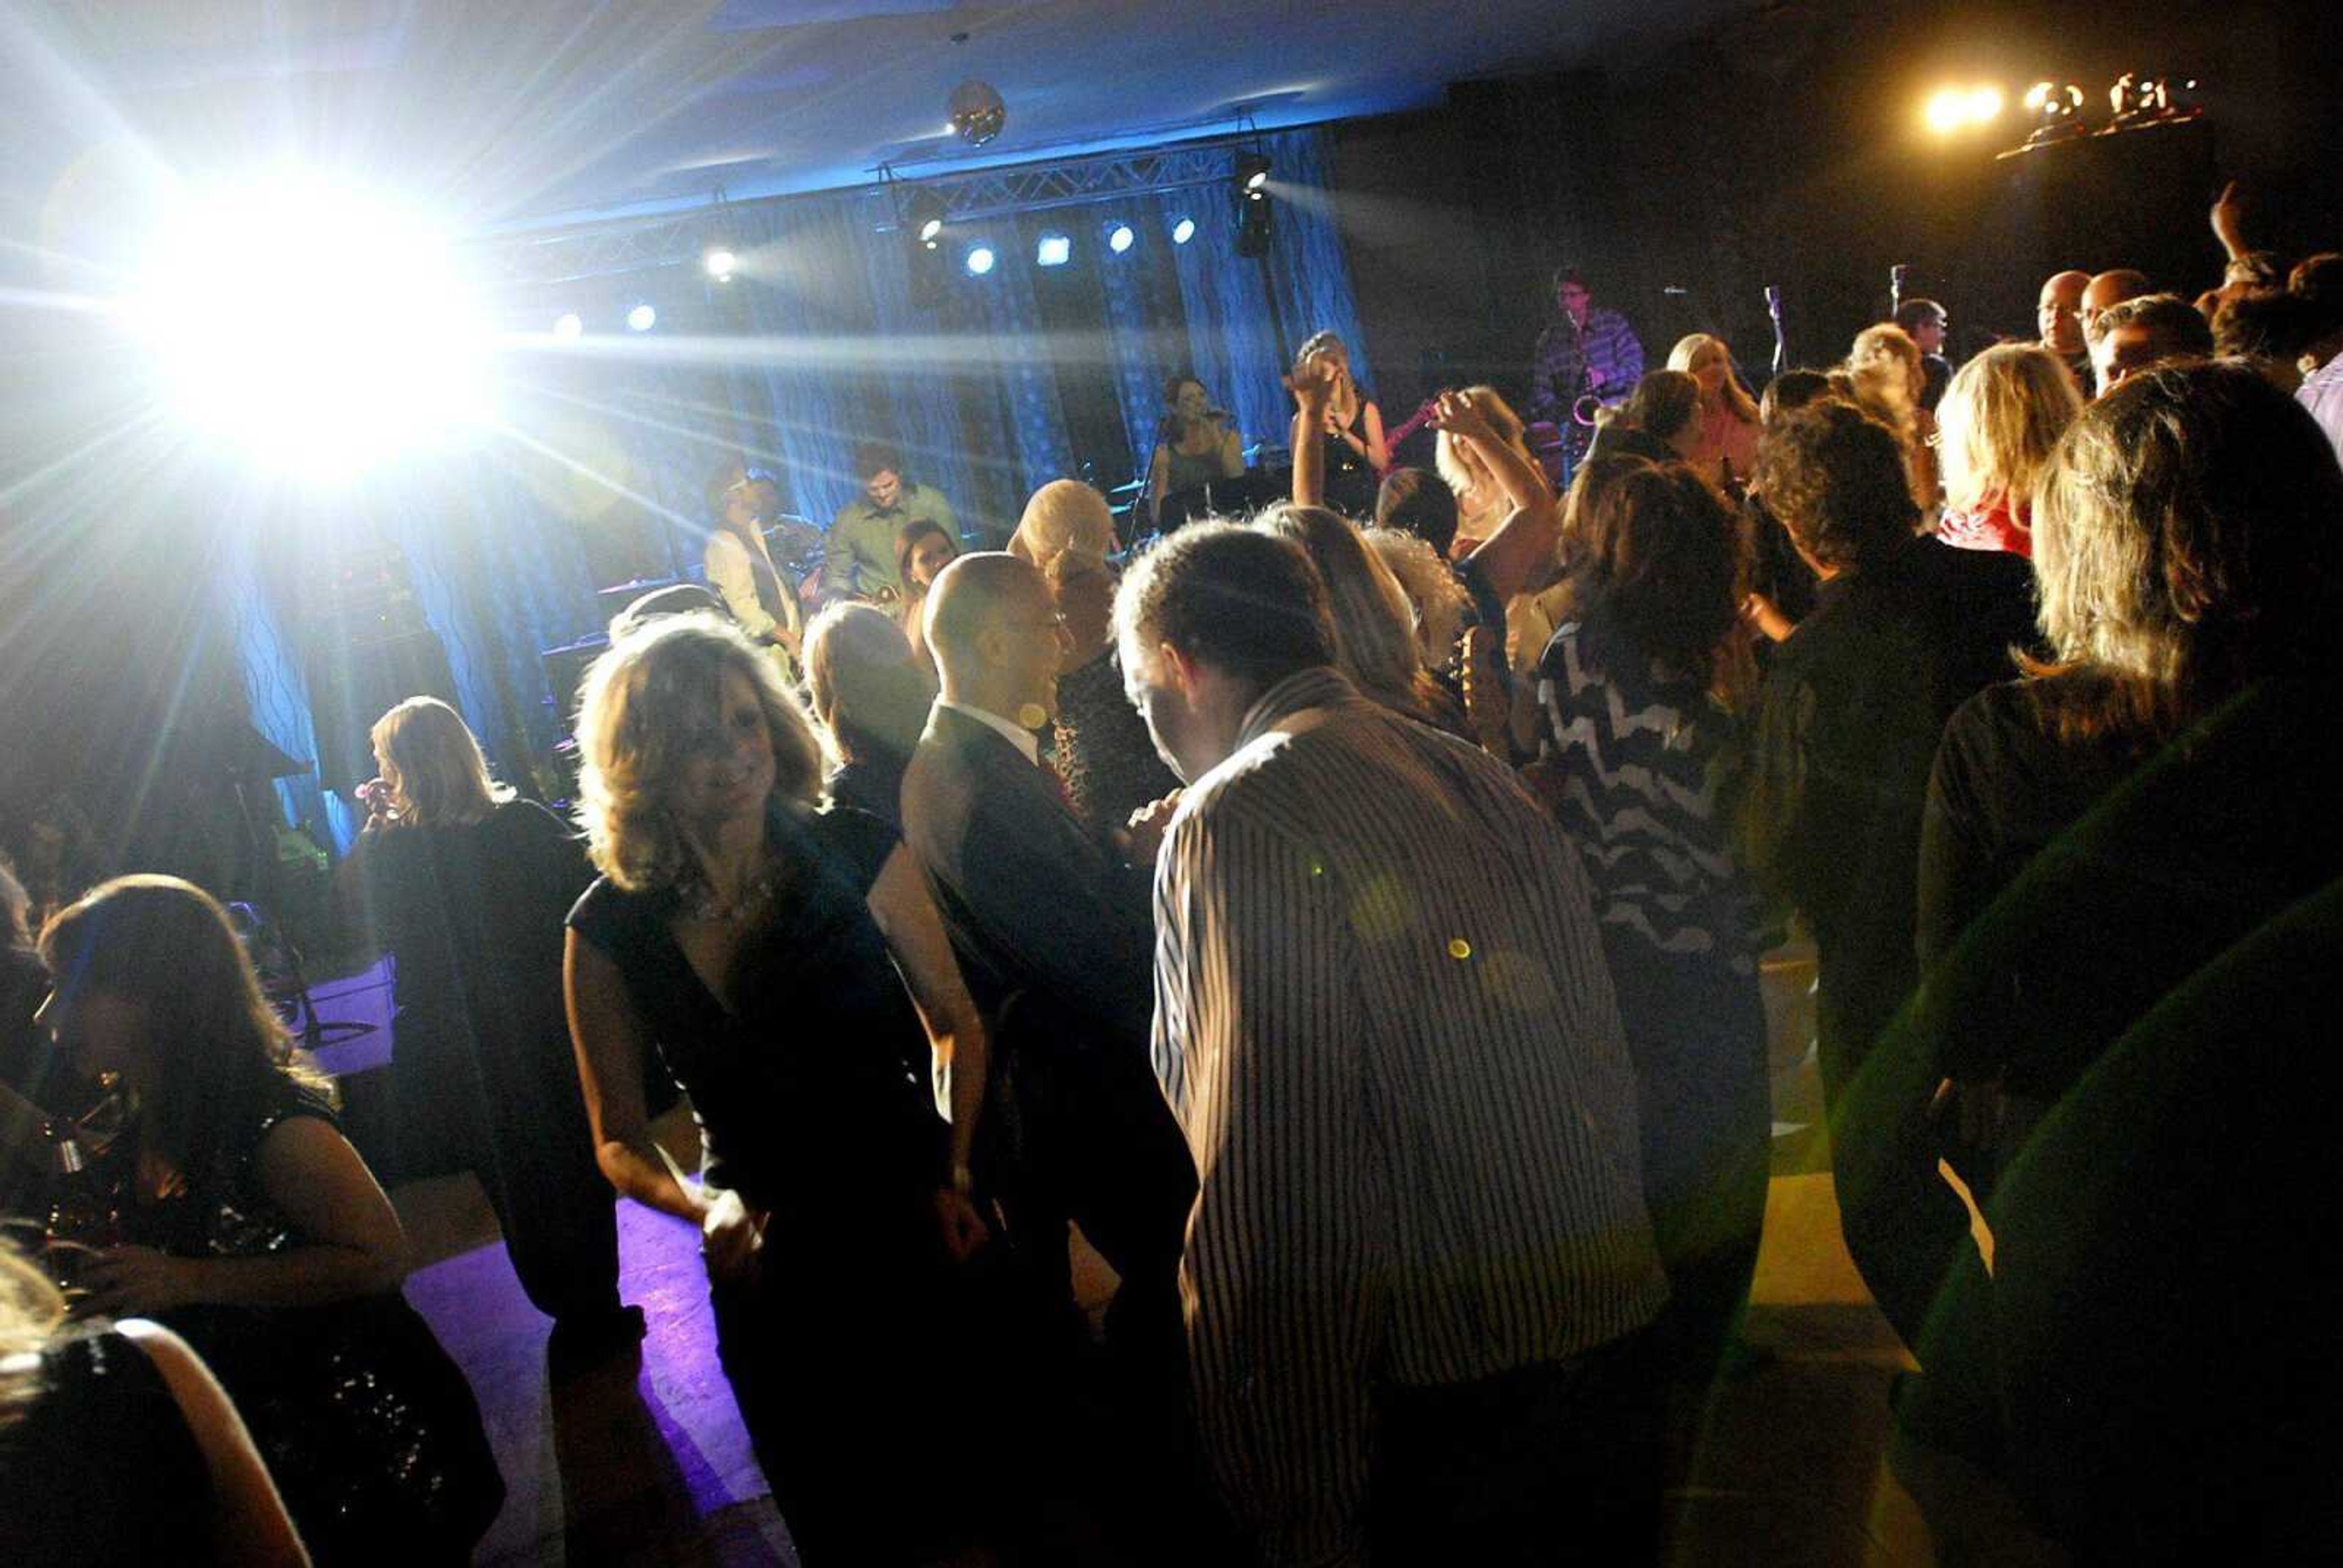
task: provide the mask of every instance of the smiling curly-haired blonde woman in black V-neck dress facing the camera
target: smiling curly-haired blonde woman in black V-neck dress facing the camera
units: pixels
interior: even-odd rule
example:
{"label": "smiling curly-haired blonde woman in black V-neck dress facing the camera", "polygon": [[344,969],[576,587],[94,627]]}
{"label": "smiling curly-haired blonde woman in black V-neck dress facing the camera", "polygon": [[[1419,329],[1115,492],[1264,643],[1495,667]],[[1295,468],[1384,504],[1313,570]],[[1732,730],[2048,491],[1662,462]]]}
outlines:
{"label": "smiling curly-haired blonde woman in black V-neck dress facing the camera", "polygon": [[[579,738],[602,879],[569,914],[569,1020],[602,1170],[701,1226],[724,1371],[806,1561],[958,1545],[984,1034],[928,886],[886,823],[815,806],[806,717],[708,616],[597,659]],[[649,1137],[654,1048],[701,1120],[698,1186]]]}

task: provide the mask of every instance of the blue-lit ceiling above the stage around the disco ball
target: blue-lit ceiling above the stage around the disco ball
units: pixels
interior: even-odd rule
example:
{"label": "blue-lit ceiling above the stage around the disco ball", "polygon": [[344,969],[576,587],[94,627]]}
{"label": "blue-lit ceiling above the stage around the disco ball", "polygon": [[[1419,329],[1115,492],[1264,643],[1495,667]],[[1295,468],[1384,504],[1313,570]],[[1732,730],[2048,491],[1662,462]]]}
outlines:
{"label": "blue-lit ceiling above the stage around the disco ball", "polygon": [[[0,178],[98,192],[328,164],[466,227],[855,185],[1436,103],[1666,45],[1746,0],[0,0]],[[979,152],[954,84],[1007,101]],[[80,206],[82,211],[66,211]]]}

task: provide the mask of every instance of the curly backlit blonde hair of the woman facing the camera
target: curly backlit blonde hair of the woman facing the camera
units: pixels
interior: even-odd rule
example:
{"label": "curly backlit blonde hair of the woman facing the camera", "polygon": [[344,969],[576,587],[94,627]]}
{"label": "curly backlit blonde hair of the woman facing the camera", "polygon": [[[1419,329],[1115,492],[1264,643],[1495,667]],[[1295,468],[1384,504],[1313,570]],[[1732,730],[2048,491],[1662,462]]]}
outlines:
{"label": "curly backlit blonde hair of the woman facing the camera", "polygon": [[712,614],[661,616],[595,659],[579,698],[579,825],[595,867],[628,893],[672,886],[689,870],[668,788],[715,722],[726,675],[757,691],[773,792],[820,797],[820,741],[773,661]]}

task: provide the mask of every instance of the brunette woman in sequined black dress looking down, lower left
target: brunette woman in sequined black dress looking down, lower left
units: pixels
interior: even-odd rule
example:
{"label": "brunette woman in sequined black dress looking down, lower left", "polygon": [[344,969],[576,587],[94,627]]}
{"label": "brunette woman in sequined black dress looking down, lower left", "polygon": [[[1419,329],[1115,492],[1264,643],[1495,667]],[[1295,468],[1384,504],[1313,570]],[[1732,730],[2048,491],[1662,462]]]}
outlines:
{"label": "brunette woman in sequined black dress looking down, lower left", "polygon": [[398,1294],[398,1214],[227,912],[117,877],[49,919],[40,956],[42,1022],[127,1106],[96,1184],[122,1245],[77,1259],[84,1310],[201,1352],[321,1563],[466,1561],[504,1502],[480,1406]]}

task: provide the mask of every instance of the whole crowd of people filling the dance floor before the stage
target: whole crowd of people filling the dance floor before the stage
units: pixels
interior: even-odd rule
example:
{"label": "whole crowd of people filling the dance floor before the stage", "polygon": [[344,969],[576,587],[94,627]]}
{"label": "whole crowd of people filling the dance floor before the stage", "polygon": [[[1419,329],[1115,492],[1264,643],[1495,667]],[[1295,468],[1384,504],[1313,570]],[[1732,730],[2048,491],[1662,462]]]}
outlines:
{"label": "whole crowd of people filling the dance floor before the stage", "polygon": [[[710,588],[586,675],[581,839],[445,703],[375,727],[405,1120],[480,1172],[558,1369],[644,1331],[612,1193],[698,1226],[808,1563],[1647,1561],[1764,1228],[1760,954],[1804,933],[1905,1434],[2085,1561],[2306,1561],[2343,258],[2247,251],[2233,195],[2214,230],[2198,302],[2062,272],[1952,366],[1912,300],[1762,398],[1715,335],[1642,373],[1563,270],[1528,408],[1593,431],[1567,485],[1492,387],[1392,469],[1328,335],[1254,518],[1162,513],[1242,471],[1174,377],[1146,551],[1057,480],[963,553],[872,450],[811,619],[731,469]],[[77,1303],[0,1259],[9,1495],[462,1556],[478,1409],[220,907],[9,912],[49,1177],[9,1195],[52,1193]],[[59,1076],[105,1097],[47,1116]],[[136,1477],[68,1458],[127,1430]],[[1045,1547],[1066,1477],[1097,1535]]]}

